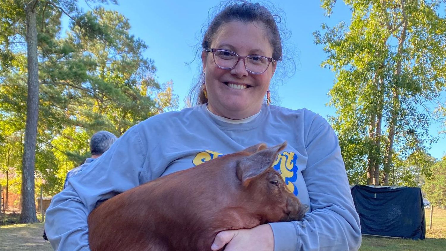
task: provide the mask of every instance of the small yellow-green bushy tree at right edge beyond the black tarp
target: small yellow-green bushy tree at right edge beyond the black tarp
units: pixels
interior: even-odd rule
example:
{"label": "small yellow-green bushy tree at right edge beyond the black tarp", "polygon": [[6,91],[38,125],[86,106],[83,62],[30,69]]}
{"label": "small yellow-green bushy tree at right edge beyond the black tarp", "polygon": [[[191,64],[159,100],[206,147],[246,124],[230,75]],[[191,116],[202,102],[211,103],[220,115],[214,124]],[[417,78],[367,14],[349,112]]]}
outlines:
{"label": "small yellow-green bushy tree at right edge beyond the black tarp", "polygon": [[446,155],[433,168],[432,179],[427,179],[423,191],[432,206],[446,206]]}

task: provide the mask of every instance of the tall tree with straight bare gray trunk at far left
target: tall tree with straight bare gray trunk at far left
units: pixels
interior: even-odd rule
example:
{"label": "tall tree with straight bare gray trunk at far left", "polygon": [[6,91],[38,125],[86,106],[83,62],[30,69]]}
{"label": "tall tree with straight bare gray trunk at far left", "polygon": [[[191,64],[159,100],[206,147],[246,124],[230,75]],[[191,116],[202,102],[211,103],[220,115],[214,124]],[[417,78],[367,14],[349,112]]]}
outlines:
{"label": "tall tree with straight bare gray trunk at far left", "polygon": [[[15,33],[6,33],[2,38],[2,58],[10,57],[10,39],[22,37],[27,47],[27,102],[26,102],[26,125],[25,143],[22,160],[22,212],[20,222],[36,222],[35,202],[34,202],[34,164],[37,143],[37,118],[39,107],[39,71],[38,71],[38,51],[37,51],[37,12],[43,7],[43,12],[48,4],[69,15],[73,11],[75,1],[63,1],[62,7],[58,7],[59,1],[54,0],[7,0],[1,4],[1,9],[5,10],[6,18],[2,19],[2,30],[5,28],[17,28]],[[66,11],[64,9],[69,9]],[[2,12],[3,13],[3,12]],[[14,16],[16,15],[16,16]],[[9,36],[8,36],[9,35]],[[19,38],[20,39],[20,38]]]}

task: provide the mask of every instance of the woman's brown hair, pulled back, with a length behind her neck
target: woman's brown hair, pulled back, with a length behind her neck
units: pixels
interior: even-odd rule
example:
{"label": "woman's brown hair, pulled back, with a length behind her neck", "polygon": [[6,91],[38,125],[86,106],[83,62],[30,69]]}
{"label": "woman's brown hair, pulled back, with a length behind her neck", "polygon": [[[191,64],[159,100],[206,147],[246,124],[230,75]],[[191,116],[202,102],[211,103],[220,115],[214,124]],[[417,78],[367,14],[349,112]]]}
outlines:
{"label": "woman's brown hair, pulled back, with a length behind her neck", "polygon": [[[210,49],[211,43],[215,39],[215,35],[223,24],[231,21],[259,22],[264,25],[264,29],[267,30],[269,35],[269,43],[273,48],[273,58],[277,61],[281,61],[282,40],[277,27],[277,23],[280,22],[280,20],[280,16],[271,14],[266,7],[259,3],[253,4],[246,0],[231,1],[212,19],[204,33],[201,49]],[[207,99],[204,96],[202,89],[203,77],[203,72],[201,72],[198,82],[192,86],[189,92],[190,105],[193,103],[197,105],[207,103]]]}

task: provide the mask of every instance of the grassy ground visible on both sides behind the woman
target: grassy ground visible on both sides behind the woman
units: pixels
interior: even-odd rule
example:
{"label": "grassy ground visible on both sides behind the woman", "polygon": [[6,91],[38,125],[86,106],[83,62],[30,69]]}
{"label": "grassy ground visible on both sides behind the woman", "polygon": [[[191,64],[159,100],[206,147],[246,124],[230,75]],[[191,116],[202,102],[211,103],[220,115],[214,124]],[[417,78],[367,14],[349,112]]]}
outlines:
{"label": "grassy ground visible on both sides behind the woman", "polygon": [[[422,241],[363,236],[359,251],[443,251],[446,247],[446,211],[434,209],[429,230],[430,209],[426,209],[426,239]],[[43,223],[0,226],[1,251],[52,251],[42,239]]]}

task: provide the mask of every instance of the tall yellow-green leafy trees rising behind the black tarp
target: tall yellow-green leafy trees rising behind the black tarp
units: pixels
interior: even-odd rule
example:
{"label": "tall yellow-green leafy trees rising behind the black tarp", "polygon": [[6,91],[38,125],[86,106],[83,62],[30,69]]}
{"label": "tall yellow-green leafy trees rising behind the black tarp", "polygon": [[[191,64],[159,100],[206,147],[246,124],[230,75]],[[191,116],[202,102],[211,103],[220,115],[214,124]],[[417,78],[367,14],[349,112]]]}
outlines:
{"label": "tall yellow-green leafy trees rising behind the black tarp", "polygon": [[[436,140],[429,135],[429,108],[446,90],[446,18],[442,1],[345,0],[351,24],[322,24],[314,32],[324,45],[322,63],[335,71],[329,105],[351,182],[388,185],[395,160],[425,152]],[[330,16],[336,0],[322,0]],[[444,13],[443,13],[444,15]],[[413,158],[413,157],[412,157]],[[417,161],[421,163],[423,158]],[[426,162],[427,163],[427,162]],[[349,171],[355,170],[355,171]],[[429,169],[422,169],[428,172]]]}

